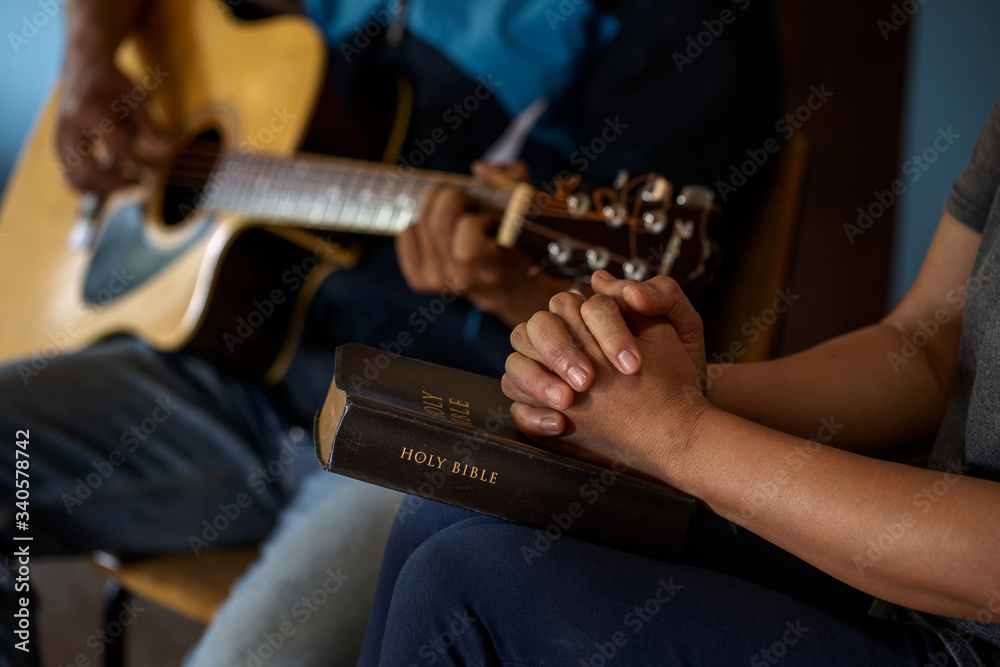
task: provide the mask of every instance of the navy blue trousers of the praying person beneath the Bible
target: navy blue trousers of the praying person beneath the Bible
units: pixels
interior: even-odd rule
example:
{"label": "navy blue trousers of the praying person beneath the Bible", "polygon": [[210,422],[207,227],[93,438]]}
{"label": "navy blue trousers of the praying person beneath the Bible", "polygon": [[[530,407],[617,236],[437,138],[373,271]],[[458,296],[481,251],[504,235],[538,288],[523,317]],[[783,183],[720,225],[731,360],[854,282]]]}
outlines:
{"label": "navy blue trousers of the praying person beneath the Bible", "polygon": [[359,665],[954,664],[932,632],[869,617],[870,597],[713,515],[677,563],[538,539],[431,501],[401,513]]}

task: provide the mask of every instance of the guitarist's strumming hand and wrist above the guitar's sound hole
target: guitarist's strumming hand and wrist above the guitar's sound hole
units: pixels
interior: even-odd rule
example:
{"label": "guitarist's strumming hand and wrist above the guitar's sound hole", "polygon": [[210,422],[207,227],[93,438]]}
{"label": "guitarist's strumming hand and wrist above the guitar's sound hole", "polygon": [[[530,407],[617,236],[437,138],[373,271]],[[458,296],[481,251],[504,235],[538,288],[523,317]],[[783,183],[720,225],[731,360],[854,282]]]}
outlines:
{"label": "guitarist's strumming hand and wrist above the guitar's sound hole", "polygon": [[143,106],[148,85],[140,86],[140,93],[113,62],[141,5],[140,0],[87,0],[66,8],[69,40],[55,150],[66,179],[81,190],[106,194],[134,183],[143,167],[170,152],[170,142]]}

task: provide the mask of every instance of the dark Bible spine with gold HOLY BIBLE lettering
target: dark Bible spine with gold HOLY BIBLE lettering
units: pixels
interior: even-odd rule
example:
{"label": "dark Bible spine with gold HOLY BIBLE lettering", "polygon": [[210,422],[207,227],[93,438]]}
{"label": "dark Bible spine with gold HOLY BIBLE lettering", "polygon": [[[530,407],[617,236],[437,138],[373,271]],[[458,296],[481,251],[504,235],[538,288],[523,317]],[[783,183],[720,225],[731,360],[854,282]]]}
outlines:
{"label": "dark Bible spine with gold HOLY BIBLE lettering", "polygon": [[[487,424],[488,427],[488,424]],[[680,549],[695,501],[544,450],[355,399],[327,470],[652,558]],[[529,547],[530,548],[530,547]]]}

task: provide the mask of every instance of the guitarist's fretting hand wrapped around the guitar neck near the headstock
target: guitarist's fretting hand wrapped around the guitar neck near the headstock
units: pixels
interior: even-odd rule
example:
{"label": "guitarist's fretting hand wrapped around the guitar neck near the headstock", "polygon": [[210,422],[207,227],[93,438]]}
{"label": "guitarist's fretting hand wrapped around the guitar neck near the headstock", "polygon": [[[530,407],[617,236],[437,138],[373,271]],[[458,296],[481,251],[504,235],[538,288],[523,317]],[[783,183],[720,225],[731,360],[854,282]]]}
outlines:
{"label": "guitarist's fretting hand wrapped around the guitar neck near the headstock", "polygon": [[[487,183],[528,180],[524,162],[505,167],[476,163],[473,174]],[[532,261],[519,250],[501,248],[488,234],[497,221],[473,212],[473,204],[453,188],[429,192],[421,203],[420,222],[396,237],[400,269],[413,291],[458,292],[514,326],[544,310],[552,295],[571,282],[532,275]]]}

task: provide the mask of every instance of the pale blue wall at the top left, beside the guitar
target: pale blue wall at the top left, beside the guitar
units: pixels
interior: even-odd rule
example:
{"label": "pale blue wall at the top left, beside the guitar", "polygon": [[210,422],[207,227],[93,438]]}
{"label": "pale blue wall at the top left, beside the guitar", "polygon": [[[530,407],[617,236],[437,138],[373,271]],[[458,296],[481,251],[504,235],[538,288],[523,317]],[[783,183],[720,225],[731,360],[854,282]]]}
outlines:
{"label": "pale blue wall at the top left, beside the guitar", "polygon": [[64,2],[0,2],[0,186],[55,83],[62,62]]}

